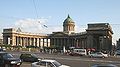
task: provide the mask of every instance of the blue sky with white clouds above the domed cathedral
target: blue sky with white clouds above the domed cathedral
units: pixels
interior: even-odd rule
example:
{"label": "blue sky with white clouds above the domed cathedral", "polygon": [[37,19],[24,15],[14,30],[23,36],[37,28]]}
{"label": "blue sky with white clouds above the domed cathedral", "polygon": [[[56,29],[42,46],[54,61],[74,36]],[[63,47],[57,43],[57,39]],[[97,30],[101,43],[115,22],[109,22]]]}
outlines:
{"label": "blue sky with white clouds above the domed cathedral", "polygon": [[62,31],[68,14],[76,32],[85,31],[89,23],[109,23],[113,42],[120,38],[120,0],[0,0],[0,35],[4,28],[45,34]]}

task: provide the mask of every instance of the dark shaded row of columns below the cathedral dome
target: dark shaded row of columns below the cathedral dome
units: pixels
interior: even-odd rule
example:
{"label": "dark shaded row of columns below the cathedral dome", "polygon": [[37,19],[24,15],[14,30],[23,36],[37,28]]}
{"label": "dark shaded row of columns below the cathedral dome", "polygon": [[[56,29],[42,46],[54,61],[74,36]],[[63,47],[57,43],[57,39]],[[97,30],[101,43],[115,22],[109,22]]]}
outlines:
{"label": "dark shaded row of columns below the cathedral dome", "polygon": [[76,47],[76,48],[86,48],[87,43],[85,39],[80,39],[80,38],[69,38],[69,37],[64,37],[64,38],[51,38],[50,40],[51,46],[56,46],[56,47]]}

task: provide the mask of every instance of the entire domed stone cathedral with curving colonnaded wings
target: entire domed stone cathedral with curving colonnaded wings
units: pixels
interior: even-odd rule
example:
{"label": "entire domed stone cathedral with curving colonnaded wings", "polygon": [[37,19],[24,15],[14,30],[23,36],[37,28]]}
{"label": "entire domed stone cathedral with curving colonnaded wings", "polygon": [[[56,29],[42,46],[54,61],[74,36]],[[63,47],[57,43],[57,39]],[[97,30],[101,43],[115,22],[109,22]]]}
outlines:
{"label": "entire domed stone cathedral with curving colonnaded wings", "polygon": [[75,33],[75,22],[68,17],[63,22],[62,32],[49,35],[23,33],[20,29],[3,29],[3,44],[34,45],[59,49],[86,48],[95,50],[112,49],[112,28],[109,23],[88,24],[85,32]]}

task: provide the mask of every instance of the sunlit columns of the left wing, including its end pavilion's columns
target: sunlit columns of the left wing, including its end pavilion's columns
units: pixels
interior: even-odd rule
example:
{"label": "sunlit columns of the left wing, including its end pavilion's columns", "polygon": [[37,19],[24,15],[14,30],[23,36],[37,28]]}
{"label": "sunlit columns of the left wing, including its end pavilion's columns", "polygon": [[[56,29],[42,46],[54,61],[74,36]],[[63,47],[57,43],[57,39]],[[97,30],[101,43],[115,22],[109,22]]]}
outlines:
{"label": "sunlit columns of the left wing, including its end pavilion's columns", "polygon": [[50,39],[41,37],[30,36],[4,36],[4,44],[11,44],[12,46],[37,46],[37,47],[50,47]]}

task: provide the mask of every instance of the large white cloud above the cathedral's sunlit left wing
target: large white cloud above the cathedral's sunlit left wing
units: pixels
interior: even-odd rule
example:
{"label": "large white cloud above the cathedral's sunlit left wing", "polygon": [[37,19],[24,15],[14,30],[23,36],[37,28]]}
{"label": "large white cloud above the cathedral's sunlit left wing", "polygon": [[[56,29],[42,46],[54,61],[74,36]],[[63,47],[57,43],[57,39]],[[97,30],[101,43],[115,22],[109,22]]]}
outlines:
{"label": "large white cloud above the cathedral's sunlit left wing", "polygon": [[49,18],[40,18],[40,19],[22,19],[18,20],[15,23],[15,28],[21,28],[23,32],[31,32],[31,33],[45,33],[49,34],[56,31],[61,31],[61,27],[57,26],[49,26],[47,23],[49,22]]}

